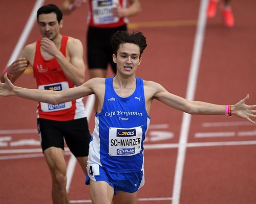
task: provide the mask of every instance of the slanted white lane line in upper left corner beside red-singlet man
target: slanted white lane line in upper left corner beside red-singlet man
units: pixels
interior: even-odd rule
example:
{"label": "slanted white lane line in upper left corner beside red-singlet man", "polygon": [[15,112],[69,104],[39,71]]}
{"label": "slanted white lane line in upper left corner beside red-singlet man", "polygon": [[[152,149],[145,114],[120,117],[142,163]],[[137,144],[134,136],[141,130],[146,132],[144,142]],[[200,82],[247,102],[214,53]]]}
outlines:
{"label": "slanted white lane line in upper left corner beside red-singlet man", "polygon": [[12,55],[7,63],[7,65],[9,66],[14,60],[16,60],[18,58],[18,55],[20,53],[20,51],[23,49],[25,42],[28,39],[28,36],[33,28],[35,19],[36,19],[36,12],[37,10],[42,6],[42,4],[44,4],[45,0],[37,0],[34,8],[29,16],[29,19],[27,21],[27,24],[25,25],[25,28],[23,29],[22,35],[20,35],[18,42],[15,46],[15,48],[13,49]]}

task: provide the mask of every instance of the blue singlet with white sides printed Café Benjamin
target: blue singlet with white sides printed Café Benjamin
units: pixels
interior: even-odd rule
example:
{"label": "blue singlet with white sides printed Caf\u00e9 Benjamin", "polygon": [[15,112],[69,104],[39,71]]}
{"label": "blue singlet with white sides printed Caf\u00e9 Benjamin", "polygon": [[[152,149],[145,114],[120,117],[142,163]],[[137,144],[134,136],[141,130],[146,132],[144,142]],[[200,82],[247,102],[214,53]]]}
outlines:
{"label": "blue singlet with white sides printed Caf\u00e9 Benjamin", "polygon": [[143,170],[143,141],[149,124],[143,80],[136,78],[134,93],[122,98],[114,90],[113,78],[106,78],[102,110],[95,115],[88,165],[98,164],[111,172]]}

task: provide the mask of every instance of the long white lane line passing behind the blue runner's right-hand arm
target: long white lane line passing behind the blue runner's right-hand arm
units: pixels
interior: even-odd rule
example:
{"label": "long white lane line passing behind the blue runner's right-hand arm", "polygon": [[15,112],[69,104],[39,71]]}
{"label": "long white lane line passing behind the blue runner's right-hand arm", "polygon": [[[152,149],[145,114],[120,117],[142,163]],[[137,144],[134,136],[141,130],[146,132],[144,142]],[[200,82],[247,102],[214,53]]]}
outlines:
{"label": "long white lane line passing behind the blue runner's right-hand arm", "polygon": [[[201,0],[196,37],[195,37],[195,43],[193,48],[193,56],[191,59],[189,79],[187,84],[186,98],[188,100],[193,100],[195,96],[199,63],[201,58],[202,45],[203,45],[204,32],[205,32],[205,24],[206,24],[205,14],[206,14],[207,5],[208,5],[207,0]],[[175,176],[174,176],[172,204],[179,204],[180,202],[181,183],[182,183],[183,167],[184,167],[185,155],[186,155],[186,143],[188,138],[190,120],[191,120],[191,115],[183,113],[180,141],[179,141],[179,148],[178,148],[178,157],[177,157]]]}

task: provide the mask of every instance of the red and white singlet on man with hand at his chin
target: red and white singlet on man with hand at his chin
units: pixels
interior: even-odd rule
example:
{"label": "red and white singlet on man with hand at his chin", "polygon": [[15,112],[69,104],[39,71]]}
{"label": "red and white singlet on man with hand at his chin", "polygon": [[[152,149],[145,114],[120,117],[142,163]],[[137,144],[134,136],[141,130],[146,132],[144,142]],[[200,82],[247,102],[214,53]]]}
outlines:
{"label": "red and white singlet on man with hand at his chin", "polygon": [[[66,57],[68,36],[62,35],[60,52]],[[34,78],[38,89],[61,91],[74,87],[55,58],[45,60],[40,51],[40,39],[36,41],[35,58],[33,64]],[[86,110],[82,98],[67,103],[51,105],[38,103],[37,118],[57,121],[68,121],[86,117]]]}

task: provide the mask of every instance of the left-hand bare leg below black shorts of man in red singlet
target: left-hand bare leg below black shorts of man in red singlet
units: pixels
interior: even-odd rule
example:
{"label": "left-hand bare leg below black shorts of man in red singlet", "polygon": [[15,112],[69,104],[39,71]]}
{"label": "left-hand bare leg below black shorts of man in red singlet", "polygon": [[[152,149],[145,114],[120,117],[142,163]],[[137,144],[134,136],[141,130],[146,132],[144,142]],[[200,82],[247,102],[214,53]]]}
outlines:
{"label": "left-hand bare leg below black shorts of man in red singlet", "polygon": [[52,175],[52,200],[54,204],[69,204],[67,185],[67,167],[64,151],[49,147],[44,151],[46,162]]}

